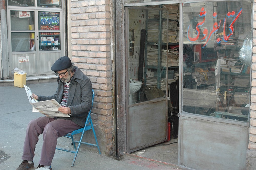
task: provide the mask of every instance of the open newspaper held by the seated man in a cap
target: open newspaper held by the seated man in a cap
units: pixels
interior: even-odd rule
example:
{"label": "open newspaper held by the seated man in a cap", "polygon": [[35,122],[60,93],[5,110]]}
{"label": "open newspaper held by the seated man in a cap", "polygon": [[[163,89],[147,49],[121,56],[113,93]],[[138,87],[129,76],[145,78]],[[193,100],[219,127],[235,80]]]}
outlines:
{"label": "open newspaper held by the seated man in a cap", "polygon": [[37,101],[30,90],[30,88],[26,85],[24,85],[25,90],[28,95],[29,103],[33,106],[33,112],[40,112],[41,114],[44,114],[47,117],[70,117],[67,114],[63,114],[60,111],[58,111],[60,104],[55,100],[45,100],[45,101]]}

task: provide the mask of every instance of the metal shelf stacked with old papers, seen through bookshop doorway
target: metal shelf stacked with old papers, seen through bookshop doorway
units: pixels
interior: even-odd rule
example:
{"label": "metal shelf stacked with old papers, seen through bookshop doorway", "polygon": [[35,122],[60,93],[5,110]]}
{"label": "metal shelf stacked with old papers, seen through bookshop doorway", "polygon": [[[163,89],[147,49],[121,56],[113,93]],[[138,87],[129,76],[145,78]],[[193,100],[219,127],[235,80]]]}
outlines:
{"label": "metal shelf stacked with old papers, seen through bookshop doorway", "polygon": [[[157,8],[163,8],[163,5],[156,6]],[[165,7],[164,7],[165,8]],[[179,40],[176,40],[179,34],[178,30],[178,21],[169,19],[168,22],[168,29],[167,29],[167,17],[166,10],[159,10],[157,11],[148,11],[146,13],[146,41],[145,41],[145,77],[144,77],[144,84],[155,86],[159,89],[166,90],[166,79],[161,78],[163,77],[162,73],[166,70],[173,70],[177,69],[179,67],[179,55],[178,52],[177,56],[172,57],[172,53],[174,53],[172,50],[172,53],[168,51],[168,54],[166,50],[168,49],[169,45],[178,45]],[[178,13],[178,10],[177,10]],[[176,15],[177,15],[176,13]],[[170,14],[169,14],[170,15]],[[173,14],[172,14],[173,15]],[[154,18],[153,18],[154,17]],[[176,17],[177,18],[177,17]],[[175,19],[176,19],[175,18]],[[170,22],[176,22],[176,26],[173,23]],[[167,31],[168,30],[168,31]],[[178,32],[178,33],[177,33]],[[168,40],[167,40],[168,36]],[[171,38],[173,37],[173,39]],[[169,42],[167,42],[167,41]],[[178,51],[178,50],[177,50]],[[168,57],[168,59],[167,59]],[[167,63],[170,65],[167,69]],[[174,65],[173,65],[174,64]],[[147,71],[151,70],[151,72],[154,72],[154,77],[148,77]],[[168,76],[169,77],[169,76]],[[150,83],[147,81],[150,80]],[[152,83],[152,80],[153,83]],[[169,80],[167,80],[169,82]]]}

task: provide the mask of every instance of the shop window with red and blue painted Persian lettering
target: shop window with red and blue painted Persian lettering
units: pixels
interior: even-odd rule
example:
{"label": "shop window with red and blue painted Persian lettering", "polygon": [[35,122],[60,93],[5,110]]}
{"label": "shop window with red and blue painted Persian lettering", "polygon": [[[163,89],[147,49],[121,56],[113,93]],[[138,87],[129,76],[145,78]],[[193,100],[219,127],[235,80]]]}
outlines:
{"label": "shop window with red and blue painted Persian lettering", "polygon": [[183,4],[183,111],[248,121],[252,3]]}

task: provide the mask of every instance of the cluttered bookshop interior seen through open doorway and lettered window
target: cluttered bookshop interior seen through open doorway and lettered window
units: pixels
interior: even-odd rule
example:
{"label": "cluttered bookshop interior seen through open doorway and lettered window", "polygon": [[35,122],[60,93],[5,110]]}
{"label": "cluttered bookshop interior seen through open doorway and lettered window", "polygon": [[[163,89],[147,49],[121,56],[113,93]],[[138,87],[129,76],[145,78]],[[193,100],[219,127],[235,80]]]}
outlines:
{"label": "cluttered bookshop interior seen through open doorway and lettered window", "polygon": [[[237,1],[231,5],[226,2],[208,2],[207,5],[212,9],[205,9],[206,4],[189,3],[183,6],[182,64],[179,62],[179,29],[182,24],[179,4],[129,8],[129,107],[167,96],[167,139],[145,148],[131,149],[131,154],[178,164],[180,66],[183,66],[184,73],[185,112],[231,121],[248,121],[250,63],[248,64],[247,59],[241,58],[239,54],[245,39],[248,38],[246,35],[251,33],[251,3]],[[222,44],[216,43],[215,39],[217,33],[224,30],[221,29],[222,26],[225,27],[223,22],[217,23],[217,26],[220,26],[219,31],[209,36],[209,40],[204,40],[203,34],[198,34],[196,40],[191,38],[197,36],[196,26],[201,19],[198,15],[200,12],[208,10],[208,13],[227,14],[232,11],[231,8],[236,11],[235,16],[240,17],[241,21],[233,24],[237,28],[226,44],[222,40]],[[242,15],[238,14],[240,8],[245,9]],[[199,31],[203,32],[206,27],[210,27],[209,25],[212,27],[221,17],[226,16],[218,15],[212,21],[208,16],[208,25],[199,27]],[[231,19],[226,19],[226,22],[232,23]],[[227,29],[226,33],[228,31],[230,30]],[[217,48],[215,50],[215,46],[225,46],[225,52],[222,53]],[[217,61],[221,63],[218,68]],[[129,114],[132,114],[131,111]],[[132,130],[130,128],[129,134],[133,133]],[[132,137],[129,138],[130,141],[134,140]]]}

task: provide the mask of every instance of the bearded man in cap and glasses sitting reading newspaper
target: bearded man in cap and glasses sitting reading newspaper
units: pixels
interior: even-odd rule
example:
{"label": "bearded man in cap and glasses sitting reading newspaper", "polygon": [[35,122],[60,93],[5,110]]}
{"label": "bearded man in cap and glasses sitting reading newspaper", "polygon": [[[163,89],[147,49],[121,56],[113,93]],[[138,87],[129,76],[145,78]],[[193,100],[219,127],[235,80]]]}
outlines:
{"label": "bearded man in cap and glasses sitting reading newspaper", "polygon": [[71,63],[67,56],[59,58],[51,67],[58,76],[58,88],[52,96],[40,96],[32,94],[38,101],[56,99],[62,106],[58,111],[68,114],[70,117],[39,117],[28,124],[22,163],[16,170],[28,170],[34,168],[34,151],[38,142],[38,136],[43,134],[41,157],[37,169],[51,168],[51,162],[55,154],[57,138],[67,133],[84,127],[88,111],[92,107],[92,84],[83,72]]}

